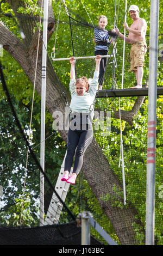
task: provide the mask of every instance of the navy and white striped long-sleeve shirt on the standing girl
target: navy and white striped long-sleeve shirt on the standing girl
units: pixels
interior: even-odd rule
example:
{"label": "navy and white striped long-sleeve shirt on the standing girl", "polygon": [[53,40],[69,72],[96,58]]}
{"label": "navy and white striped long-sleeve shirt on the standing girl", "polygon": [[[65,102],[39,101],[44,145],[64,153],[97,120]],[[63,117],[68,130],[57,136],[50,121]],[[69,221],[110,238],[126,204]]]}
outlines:
{"label": "navy and white striped long-sleeve shirt on the standing girl", "polygon": [[95,41],[99,42],[99,41],[103,41],[106,42],[107,45],[96,45],[95,46],[95,51],[99,51],[99,50],[106,50],[108,51],[108,47],[111,45],[109,42],[109,35],[108,35],[108,31],[104,30],[102,31],[101,29],[95,28],[94,31],[95,34]]}

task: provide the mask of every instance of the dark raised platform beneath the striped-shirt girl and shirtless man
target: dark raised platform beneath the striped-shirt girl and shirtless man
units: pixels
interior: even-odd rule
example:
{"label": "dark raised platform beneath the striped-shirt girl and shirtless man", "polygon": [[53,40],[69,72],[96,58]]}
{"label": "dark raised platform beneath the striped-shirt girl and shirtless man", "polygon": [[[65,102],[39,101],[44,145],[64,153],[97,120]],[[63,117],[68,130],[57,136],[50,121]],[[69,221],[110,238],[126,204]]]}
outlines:
{"label": "dark raised platform beneath the striped-shirt girl and shirtless man", "polygon": [[[157,88],[157,95],[163,95],[163,87]],[[102,97],[132,97],[132,96],[148,96],[148,88],[99,90],[96,97],[102,98]]]}

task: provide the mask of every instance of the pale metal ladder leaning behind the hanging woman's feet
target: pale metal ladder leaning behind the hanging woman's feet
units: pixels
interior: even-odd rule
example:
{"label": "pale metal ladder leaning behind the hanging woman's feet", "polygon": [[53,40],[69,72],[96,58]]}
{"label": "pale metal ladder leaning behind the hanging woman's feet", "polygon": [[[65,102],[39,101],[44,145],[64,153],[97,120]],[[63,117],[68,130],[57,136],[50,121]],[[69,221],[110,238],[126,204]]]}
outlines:
{"label": "pale metal ladder leaning behind the hanging woman's feet", "polygon": [[[67,154],[67,151],[66,151],[66,154]],[[61,181],[62,175],[64,174],[66,154],[64,157],[64,161],[62,162],[62,165],[61,165],[57,183],[55,185],[55,191],[58,193],[59,197],[62,199],[63,202],[65,202],[67,191],[70,186],[70,184],[67,183],[66,181]],[[72,171],[73,171],[73,168],[71,168],[70,175],[72,174]],[[51,199],[51,203],[49,204],[44,225],[52,225],[54,223],[58,223],[59,217],[62,211],[62,207],[63,207],[62,203],[60,202],[59,198],[54,192]]]}

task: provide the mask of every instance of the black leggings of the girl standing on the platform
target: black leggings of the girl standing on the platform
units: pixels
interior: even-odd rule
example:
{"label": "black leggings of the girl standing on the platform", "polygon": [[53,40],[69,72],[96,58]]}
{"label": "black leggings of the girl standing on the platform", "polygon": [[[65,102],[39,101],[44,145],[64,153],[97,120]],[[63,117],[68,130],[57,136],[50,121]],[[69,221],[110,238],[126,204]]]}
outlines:
{"label": "black leggings of the girl standing on the platform", "polygon": [[[96,55],[108,55],[108,51],[98,50],[98,51],[95,51],[95,56]],[[103,82],[104,82],[104,75],[105,75],[105,68],[106,68],[107,61],[108,61],[108,58],[102,58],[101,62],[99,64],[98,83],[99,83],[100,86],[102,86]]]}

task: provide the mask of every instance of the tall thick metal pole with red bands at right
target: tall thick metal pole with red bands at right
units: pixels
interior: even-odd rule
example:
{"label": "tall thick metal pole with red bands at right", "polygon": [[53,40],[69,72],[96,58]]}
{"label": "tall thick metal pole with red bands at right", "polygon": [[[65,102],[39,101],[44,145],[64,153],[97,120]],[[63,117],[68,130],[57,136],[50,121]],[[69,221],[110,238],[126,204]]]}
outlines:
{"label": "tall thick metal pole with red bands at right", "polygon": [[158,70],[159,0],[151,0],[146,185],[146,245],[154,245],[156,99]]}

